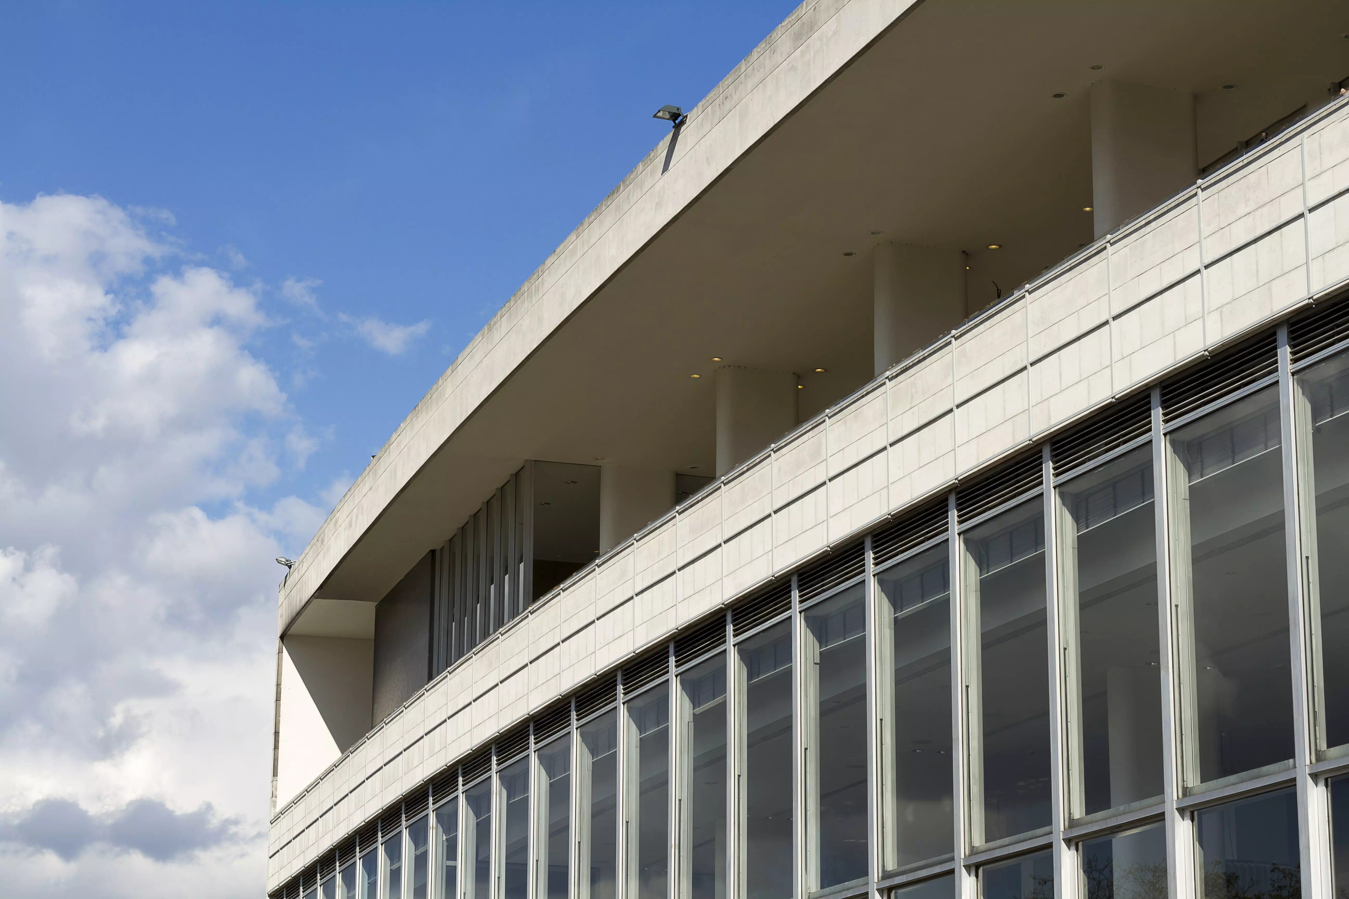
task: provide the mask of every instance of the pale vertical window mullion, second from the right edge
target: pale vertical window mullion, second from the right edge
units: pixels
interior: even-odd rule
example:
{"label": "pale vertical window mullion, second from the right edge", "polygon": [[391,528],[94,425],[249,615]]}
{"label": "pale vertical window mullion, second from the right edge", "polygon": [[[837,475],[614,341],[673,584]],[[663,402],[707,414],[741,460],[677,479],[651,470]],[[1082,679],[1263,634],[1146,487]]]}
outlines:
{"label": "pale vertical window mullion, second from the right edge", "polygon": [[[1171,547],[1184,546],[1188,554],[1190,540],[1186,536],[1176,540],[1171,534],[1174,516],[1171,501],[1174,491],[1171,481],[1184,469],[1172,460],[1171,446],[1161,434],[1161,390],[1152,388],[1152,478],[1156,542],[1157,542],[1157,650],[1161,667],[1161,776],[1164,784],[1164,815],[1167,830],[1167,894],[1172,898],[1193,895],[1195,888],[1194,840],[1191,825],[1184,813],[1176,809],[1180,798],[1184,766],[1184,702],[1180,700],[1179,669],[1182,605],[1176,601],[1172,585],[1178,577],[1171,563]],[[1188,526],[1186,526],[1188,530]],[[1186,555],[1188,558],[1188,555]],[[1191,756],[1193,757],[1193,756]]]}

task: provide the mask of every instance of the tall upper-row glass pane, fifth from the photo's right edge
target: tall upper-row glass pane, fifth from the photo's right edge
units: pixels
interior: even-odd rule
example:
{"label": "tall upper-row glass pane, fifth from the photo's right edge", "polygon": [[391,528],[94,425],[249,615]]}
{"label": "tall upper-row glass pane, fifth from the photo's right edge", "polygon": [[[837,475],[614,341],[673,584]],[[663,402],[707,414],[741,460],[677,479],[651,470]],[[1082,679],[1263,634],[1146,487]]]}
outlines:
{"label": "tall upper-row glass pane, fifth from the photo's right edge", "polygon": [[893,871],[955,846],[951,809],[951,590],[946,545],[876,577],[881,594],[882,828]]}

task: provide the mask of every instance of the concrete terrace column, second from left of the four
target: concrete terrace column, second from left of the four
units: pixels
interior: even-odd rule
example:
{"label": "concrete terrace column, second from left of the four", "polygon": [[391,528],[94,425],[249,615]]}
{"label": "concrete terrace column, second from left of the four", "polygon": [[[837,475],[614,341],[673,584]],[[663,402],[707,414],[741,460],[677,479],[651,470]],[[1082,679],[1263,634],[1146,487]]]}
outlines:
{"label": "concrete terrace column, second from left of the four", "polygon": [[792,372],[716,369],[716,474],[722,476],[797,425]]}

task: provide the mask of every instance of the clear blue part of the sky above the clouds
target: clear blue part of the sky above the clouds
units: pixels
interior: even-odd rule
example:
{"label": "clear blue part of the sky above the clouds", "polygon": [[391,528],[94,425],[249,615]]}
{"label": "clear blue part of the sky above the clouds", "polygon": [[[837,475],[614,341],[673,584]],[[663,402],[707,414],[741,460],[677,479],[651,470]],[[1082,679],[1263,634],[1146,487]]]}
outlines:
{"label": "clear blue part of the sky above the clouds", "polygon": [[[0,198],[166,210],[174,240],[264,299],[320,282],[328,318],[270,309],[294,326],[256,350],[318,441],[272,489],[312,496],[360,470],[656,144],[650,113],[691,108],[792,8],[5,4]],[[341,340],[339,314],[429,328],[390,356]]]}

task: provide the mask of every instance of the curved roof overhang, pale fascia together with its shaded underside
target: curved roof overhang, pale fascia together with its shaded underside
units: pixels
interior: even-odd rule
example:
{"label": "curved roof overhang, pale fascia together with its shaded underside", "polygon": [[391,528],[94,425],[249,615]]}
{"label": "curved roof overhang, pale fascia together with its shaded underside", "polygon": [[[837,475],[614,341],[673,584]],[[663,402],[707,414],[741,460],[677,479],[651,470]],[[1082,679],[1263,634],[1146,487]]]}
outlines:
{"label": "curved roof overhang, pale fascia together with its shaded underside", "polygon": [[1194,93],[1203,163],[1349,74],[1346,27],[1326,0],[803,4],[403,421],[282,584],[281,631],[314,597],[378,601],[526,458],[710,473],[712,379],[688,375],[711,356],[801,373],[803,419],[870,380],[881,240],[966,249],[971,313],[1090,243],[1093,81]]}

